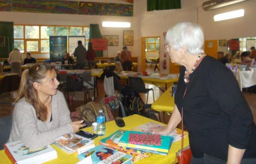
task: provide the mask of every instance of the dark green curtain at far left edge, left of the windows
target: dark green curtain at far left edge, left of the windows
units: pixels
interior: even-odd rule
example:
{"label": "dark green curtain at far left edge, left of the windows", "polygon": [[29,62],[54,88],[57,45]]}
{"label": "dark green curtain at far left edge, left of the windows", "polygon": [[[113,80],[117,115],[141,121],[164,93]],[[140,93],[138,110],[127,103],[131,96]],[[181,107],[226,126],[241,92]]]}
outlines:
{"label": "dark green curtain at far left edge, left of the windows", "polygon": [[[9,43],[7,38],[5,39],[5,46],[0,46],[0,58],[8,58],[9,53],[14,48],[14,30],[13,30],[13,22],[0,22],[0,39],[1,36],[8,37]],[[8,47],[9,46],[9,47]]]}

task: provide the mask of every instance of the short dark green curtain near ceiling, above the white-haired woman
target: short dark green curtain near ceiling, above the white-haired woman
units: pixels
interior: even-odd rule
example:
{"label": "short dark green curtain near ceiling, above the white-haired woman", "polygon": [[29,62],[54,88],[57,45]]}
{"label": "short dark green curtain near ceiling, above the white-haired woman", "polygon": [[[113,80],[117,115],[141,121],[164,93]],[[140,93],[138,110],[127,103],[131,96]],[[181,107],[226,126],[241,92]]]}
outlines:
{"label": "short dark green curtain near ceiling, above the white-haired woman", "polygon": [[147,11],[181,8],[180,0],[147,0]]}

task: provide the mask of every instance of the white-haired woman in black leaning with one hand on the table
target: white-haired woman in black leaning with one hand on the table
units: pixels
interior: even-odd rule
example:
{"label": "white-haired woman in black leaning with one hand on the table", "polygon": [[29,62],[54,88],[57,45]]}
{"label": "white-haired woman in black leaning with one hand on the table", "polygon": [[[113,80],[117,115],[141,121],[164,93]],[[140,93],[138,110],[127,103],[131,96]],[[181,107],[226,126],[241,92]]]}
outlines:
{"label": "white-haired woman in black leaning with one hand on the table", "polygon": [[166,42],[172,62],[182,67],[168,125],[151,129],[156,134],[169,134],[181,122],[183,108],[193,155],[191,164],[255,163],[251,109],[233,73],[204,54],[202,28],[188,22],[176,24],[168,30]]}

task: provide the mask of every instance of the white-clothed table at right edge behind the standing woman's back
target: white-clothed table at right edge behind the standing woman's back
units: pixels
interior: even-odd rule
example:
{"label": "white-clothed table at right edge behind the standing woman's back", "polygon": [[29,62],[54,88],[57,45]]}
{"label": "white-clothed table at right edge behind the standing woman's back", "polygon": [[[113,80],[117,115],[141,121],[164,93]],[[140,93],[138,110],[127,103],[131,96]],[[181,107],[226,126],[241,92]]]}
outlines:
{"label": "white-clothed table at right edge behind the standing woman's back", "polygon": [[251,71],[234,71],[240,90],[256,85],[256,68],[252,68]]}

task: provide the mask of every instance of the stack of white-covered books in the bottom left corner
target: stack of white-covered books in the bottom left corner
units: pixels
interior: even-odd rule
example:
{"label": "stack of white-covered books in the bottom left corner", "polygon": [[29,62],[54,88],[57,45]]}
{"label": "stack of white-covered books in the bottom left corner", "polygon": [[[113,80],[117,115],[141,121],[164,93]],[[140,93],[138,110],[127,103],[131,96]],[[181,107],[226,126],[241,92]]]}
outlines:
{"label": "stack of white-covered books in the bottom left corner", "polygon": [[57,152],[50,145],[30,149],[23,144],[23,141],[4,144],[4,151],[13,164],[44,163],[57,158]]}

